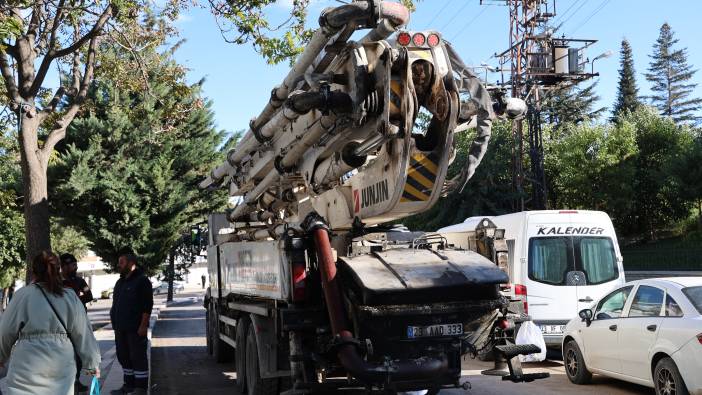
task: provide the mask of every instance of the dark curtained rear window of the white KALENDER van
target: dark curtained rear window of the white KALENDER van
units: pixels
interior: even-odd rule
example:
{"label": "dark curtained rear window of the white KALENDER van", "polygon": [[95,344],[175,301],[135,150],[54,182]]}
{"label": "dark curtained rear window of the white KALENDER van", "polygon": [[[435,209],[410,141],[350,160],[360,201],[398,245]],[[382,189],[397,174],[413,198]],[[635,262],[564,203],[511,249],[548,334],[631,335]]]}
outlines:
{"label": "dark curtained rear window of the white KALENDER van", "polygon": [[529,240],[529,278],[566,285],[568,273],[585,273],[586,284],[602,284],[619,277],[614,244],[609,237],[532,237]]}

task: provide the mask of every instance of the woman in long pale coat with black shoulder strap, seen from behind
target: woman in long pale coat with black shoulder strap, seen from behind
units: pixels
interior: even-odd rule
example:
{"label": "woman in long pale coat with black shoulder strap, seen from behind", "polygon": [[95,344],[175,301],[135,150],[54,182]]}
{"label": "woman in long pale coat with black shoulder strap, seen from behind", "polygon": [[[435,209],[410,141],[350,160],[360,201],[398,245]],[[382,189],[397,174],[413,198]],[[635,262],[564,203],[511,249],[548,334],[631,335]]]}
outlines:
{"label": "woman in long pale coat with black shoulder strap, seen from behind", "polygon": [[78,296],[63,288],[56,255],[34,258],[32,280],[0,320],[0,365],[10,361],[6,395],[73,395],[76,357],[99,375],[97,341]]}

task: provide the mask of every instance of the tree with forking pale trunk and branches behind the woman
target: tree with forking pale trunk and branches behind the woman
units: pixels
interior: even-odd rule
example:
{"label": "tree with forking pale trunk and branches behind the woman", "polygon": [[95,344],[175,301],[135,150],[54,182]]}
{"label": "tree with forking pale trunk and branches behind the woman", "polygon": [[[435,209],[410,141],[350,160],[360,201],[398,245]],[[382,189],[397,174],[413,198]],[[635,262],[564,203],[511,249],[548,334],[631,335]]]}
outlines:
{"label": "tree with forking pale trunk and branches behind the woman", "polygon": [[[20,125],[17,138],[29,260],[51,247],[49,157],[85,101],[98,39],[115,7],[110,2],[76,7],[64,0],[8,1],[0,6],[0,13],[4,16],[0,21],[0,71]],[[44,87],[52,64],[69,70],[53,94]]]}

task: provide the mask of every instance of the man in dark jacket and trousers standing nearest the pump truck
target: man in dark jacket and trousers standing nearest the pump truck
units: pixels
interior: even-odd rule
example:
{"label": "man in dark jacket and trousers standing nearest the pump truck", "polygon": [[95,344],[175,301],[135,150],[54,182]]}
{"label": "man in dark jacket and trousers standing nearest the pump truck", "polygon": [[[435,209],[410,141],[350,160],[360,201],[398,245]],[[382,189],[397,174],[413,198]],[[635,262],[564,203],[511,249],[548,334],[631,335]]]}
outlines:
{"label": "man in dark jacket and trousers standing nearest the pump truck", "polygon": [[146,356],[149,317],[154,299],[151,282],[137,267],[137,257],[124,252],[117,269],[110,320],[115,331],[117,360],[124,371],[124,385],[112,394],[146,394],[149,363]]}

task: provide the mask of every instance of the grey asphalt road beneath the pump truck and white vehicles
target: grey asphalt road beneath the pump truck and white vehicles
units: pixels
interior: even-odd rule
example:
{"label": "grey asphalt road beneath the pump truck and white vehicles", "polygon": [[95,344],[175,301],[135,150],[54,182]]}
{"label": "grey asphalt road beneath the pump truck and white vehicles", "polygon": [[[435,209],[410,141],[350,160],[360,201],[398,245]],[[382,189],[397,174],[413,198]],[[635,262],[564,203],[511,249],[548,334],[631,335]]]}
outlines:
{"label": "grey asphalt road beneath the pump truck and white vehicles", "polygon": [[[184,300],[161,313],[153,332],[151,350],[153,394],[237,394],[234,366],[215,363],[207,355],[204,336],[205,310],[200,300]],[[595,376],[591,385],[573,385],[560,361],[525,364],[526,371],[551,373],[550,378],[532,383],[502,382],[499,378],[480,374],[481,370],[490,367],[490,363],[467,359],[463,363],[463,375],[472,388],[469,391],[444,390],[441,394],[653,394],[648,388],[603,376]]]}

